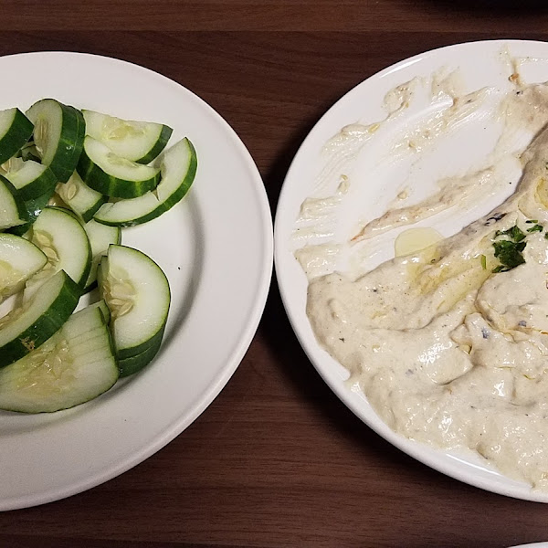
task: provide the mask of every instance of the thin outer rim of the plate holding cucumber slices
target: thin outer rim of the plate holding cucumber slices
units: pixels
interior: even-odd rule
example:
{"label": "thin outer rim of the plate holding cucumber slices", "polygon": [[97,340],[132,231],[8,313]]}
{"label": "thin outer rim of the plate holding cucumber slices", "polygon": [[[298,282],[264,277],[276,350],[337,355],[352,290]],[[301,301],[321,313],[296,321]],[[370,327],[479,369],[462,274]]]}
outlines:
{"label": "thin outer rim of the plate holding cucumber slices", "polygon": [[235,152],[237,152],[237,155],[248,169],[250,175],[249,182],[252,183],[249,186],[249,188],[252,189],[250,195],[254,196],[258,205],[257,213],[260,221],[260,232],[264,235],[264,237],[261,238],[262,254],[260,258],[257,259],[257,269],[258,272],[260,272],[260,275],[258,276],[257,284],[253,287],[253,297],[250,298],[251,304],[249,307],[250,310],[248,312],[248,316],[245,321],[242,321],[243,327],[238,333],[237,339],[235,338],[235,340],[231,342],[231,352],[225,358],[222,367],[220,367],[214,375],[214,381],[207,385],[205,390],[196,398],[195,405],[188,414],[179,416],[176,420],[166,425],[163,430],[155,433],[155,435],[150,438],[148,443],[143,444],[140,451],[132,454],[130,458],[126,458],[124,461],[120,462],[118,466],[111,467],[110,469],[102,469],[89,478],[81,479],[71,483],[70,485],[59,487],[57,489],[49,489],[36,495],[23,494],[19,496],[11,496],[6,499],[2,499],[0,497],[0,511],[19,510],[46,504],[48,502],[60,501],[79,494],[85,490],[90,490],[93,487],[97,487],[110,479],[120,476],[125,471],[132,469],[146,458],[152,457],[153,454],[158,452],[168,443],[173,441],[175,437],[184,432],[184,430],[192,425],[195,420],[204,413],[205,409],[213,403],[217,395],[220,394],[232,375],[236,372],[239,364],[241,364],[245,354],[248,352],[248,349],[258,330],[259,322],[262,318],[267,303],[270,282],[273,274],[273,220],[266,186],[260,172],[258,171],[258,166],[255,163],[251,153],[249,153],[246,144],[219,111],[216,111],[216,109],[214,109],[209,103],[203,100],[194,91],[186,88],[180,82],[168,78],[161,72],[157,72],[152,68],[143,67],[142,65],[121,58],[68,50],[39,50],[0,56],[0,60],[4,58],[49,56],[95,58],[99,60],[104,59],[108,62],[120,63],[121,65],[131,68],[132,70],[149,73],[149,75],[153,78],[163,79],[164,83],[171,86],[175,85],[183,91],[184,94],[192,96],[193,100],[200,105],[201,109],[215,118],[216,122],[224,127],[224,130],[231,137],[231,142]]}

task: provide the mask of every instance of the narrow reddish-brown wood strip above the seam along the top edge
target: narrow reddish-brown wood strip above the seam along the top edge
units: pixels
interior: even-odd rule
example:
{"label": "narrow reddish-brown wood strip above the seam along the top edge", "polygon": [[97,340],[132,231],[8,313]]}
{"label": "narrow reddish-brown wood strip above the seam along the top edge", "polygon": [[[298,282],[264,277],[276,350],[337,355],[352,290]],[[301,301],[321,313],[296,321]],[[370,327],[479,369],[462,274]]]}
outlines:
{"label": "narrow reddish-brown wood strip above the seam along the top edge", "polygon": [[[12,30],[530,32],[548,20],[535,0],[4,0]],[[25,16],[22,16],[24,14]]]}

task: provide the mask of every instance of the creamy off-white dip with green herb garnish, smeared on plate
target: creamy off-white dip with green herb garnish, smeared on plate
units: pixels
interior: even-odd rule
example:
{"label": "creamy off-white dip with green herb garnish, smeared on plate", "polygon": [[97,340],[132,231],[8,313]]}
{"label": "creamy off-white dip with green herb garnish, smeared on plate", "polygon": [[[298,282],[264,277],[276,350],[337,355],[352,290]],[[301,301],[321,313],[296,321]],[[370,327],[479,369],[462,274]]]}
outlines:
{"label": "creamy off-white dip with green herb garnish, smeared on plate", "polygon": [[[547,87],[518,91],[530,95],[523,121],[540,129]],[[435,447],[472,449],[548,490],[548,130],[518,153],[514,194],[452,237],[357,274],[341,273],[333,258],[355,234],[346,243],[320,238],[296,256],[309,275],[318,341],[390,427]],[[453,194],[442,188],[407,207],[410,222],[455,205]],[[342,199],[340,190],[329,208]],[[401,214],[366,223],[358,239],[394,227]]]}

